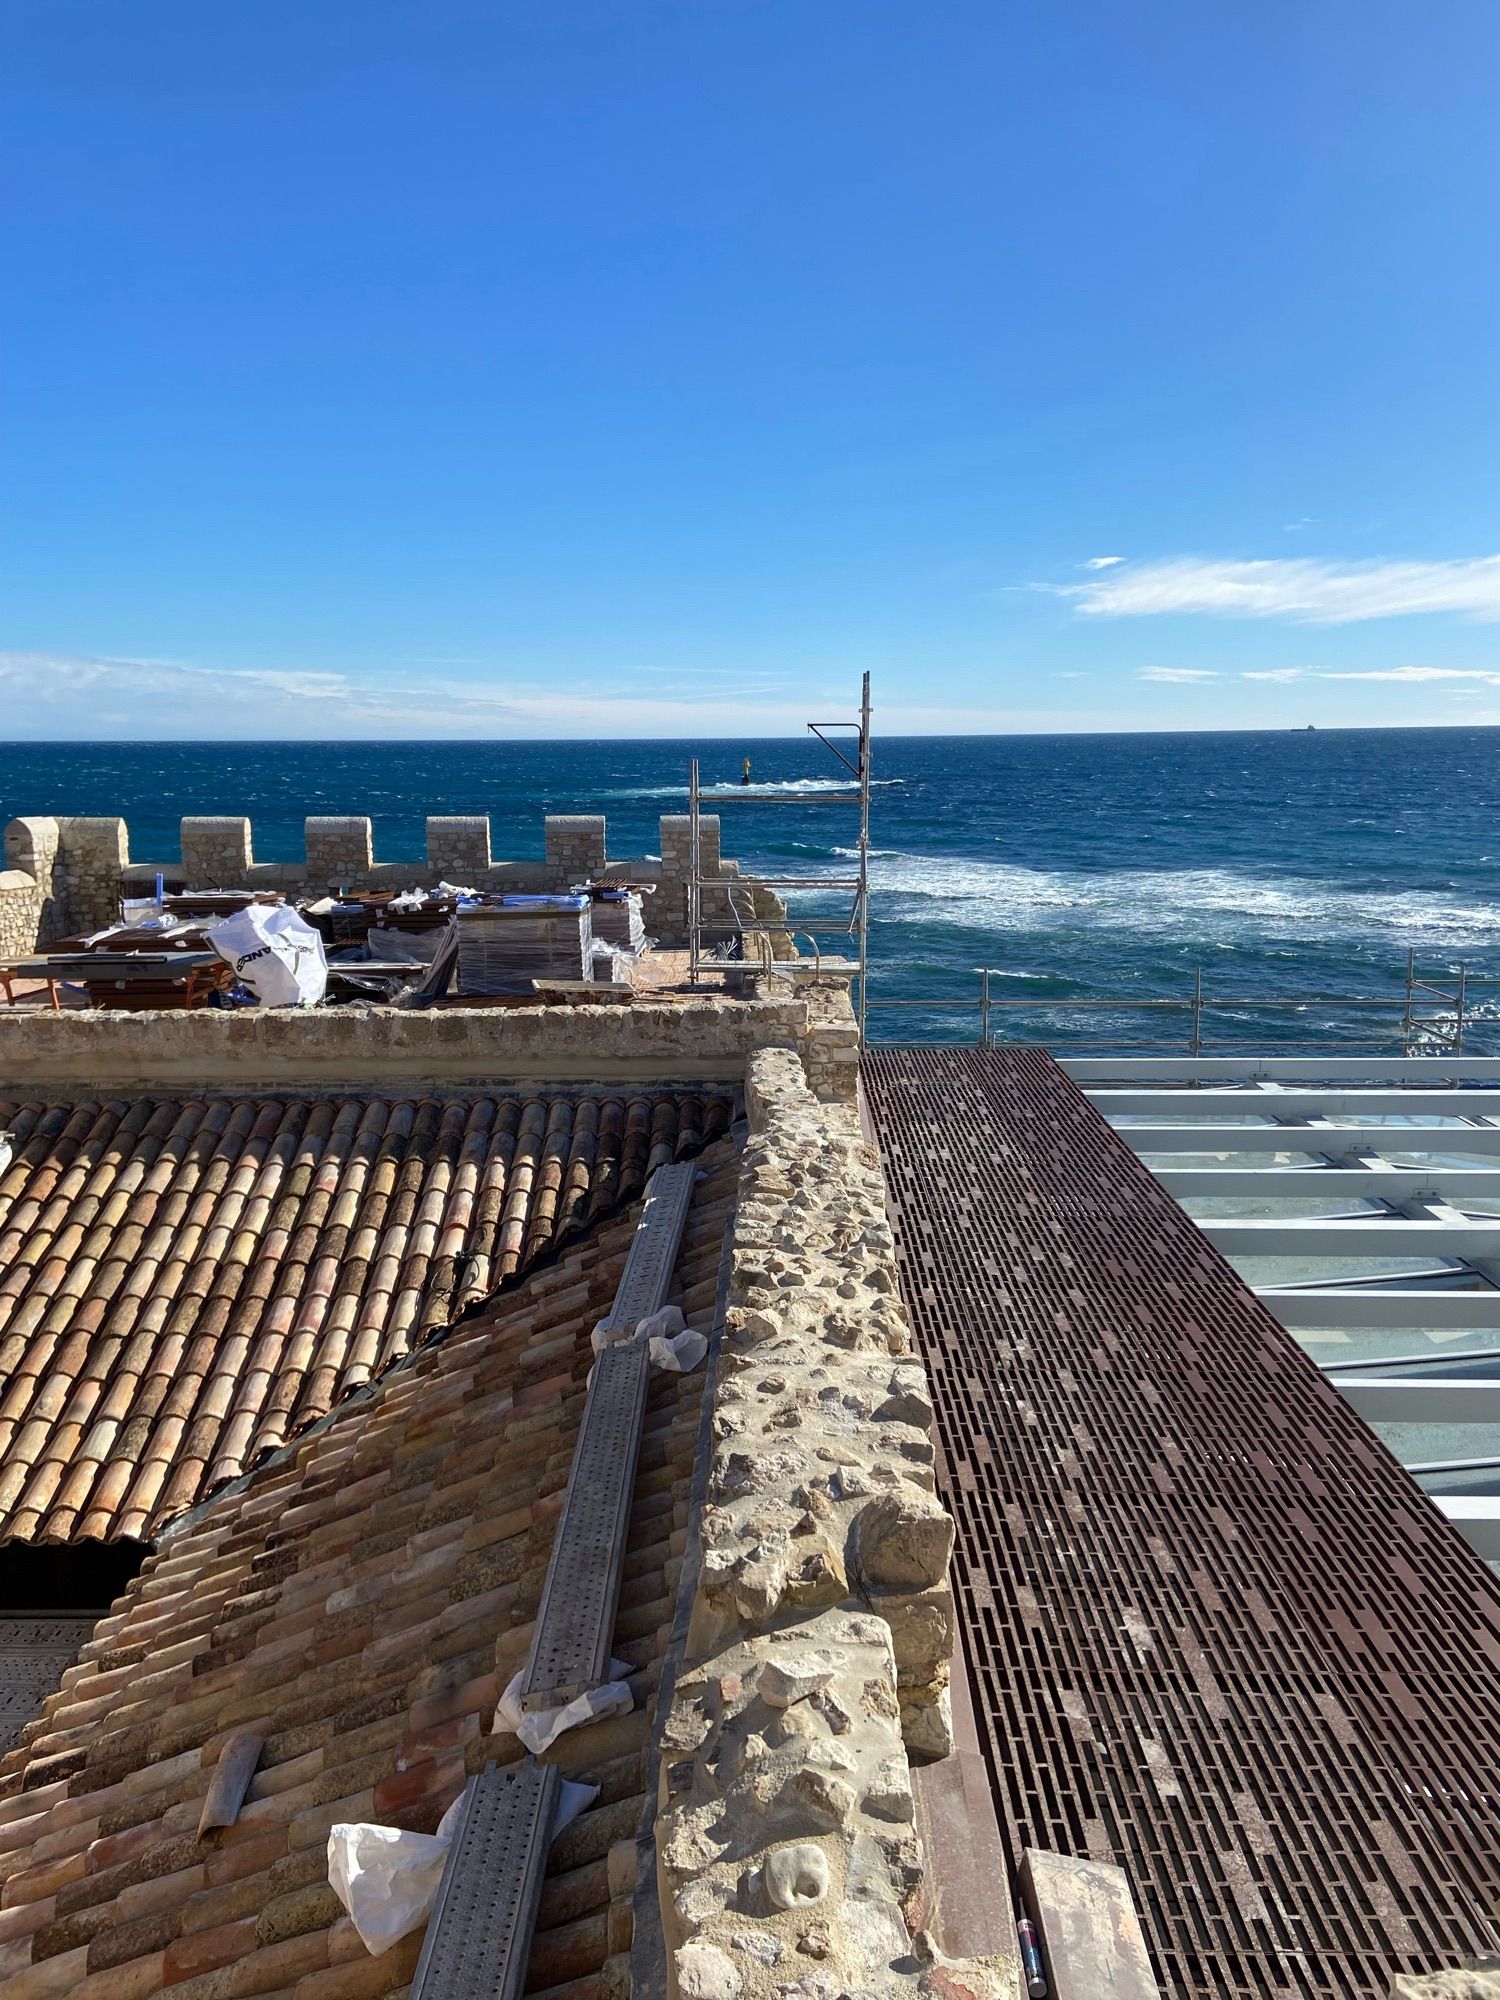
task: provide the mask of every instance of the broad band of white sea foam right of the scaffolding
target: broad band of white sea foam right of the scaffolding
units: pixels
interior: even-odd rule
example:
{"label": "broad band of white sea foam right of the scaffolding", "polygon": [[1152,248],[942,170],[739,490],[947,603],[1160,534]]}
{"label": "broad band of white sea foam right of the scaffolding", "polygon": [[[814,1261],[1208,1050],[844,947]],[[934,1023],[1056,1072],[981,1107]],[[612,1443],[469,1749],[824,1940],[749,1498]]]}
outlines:
{"label": "broad band of white sea foam right of the scaffolding", "polygon": [[[852,850],[836,850],[852,852]],[[832,870],[830,870],[832,872]],[[1278,882],[1222,868],[1068,872],[950,856],[870,856],[870,886],[902,922],[966,930],[1138,930],[1142,936],[1252,936],[1258,942],[1500,942],[1500,904],[1426,890],[1354,890],[1336,882]]]}

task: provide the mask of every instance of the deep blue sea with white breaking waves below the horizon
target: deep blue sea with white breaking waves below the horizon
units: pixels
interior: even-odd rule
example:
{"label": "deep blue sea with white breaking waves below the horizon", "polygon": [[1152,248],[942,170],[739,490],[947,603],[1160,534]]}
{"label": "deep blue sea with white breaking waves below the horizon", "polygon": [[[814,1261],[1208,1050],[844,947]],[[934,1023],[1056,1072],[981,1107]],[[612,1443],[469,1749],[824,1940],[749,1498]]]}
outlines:
{"label": "deep blue sea with white breaking waves below the horizon", "polygon": [[[848,780],[812,738],[0,744],[0,818],[120,812],[134,860],[170,860],[182,814],[246,812],[258,860],[296,860],[304,814],[368,812],[380,860],[418,860],[428,812],[488,812],[500,858],[540,854],[546,812],[606,812],[612,856],[652,854],[694,750],[704,784],[748,754],[786,800],[728,808],[726,854],[850,868],[854,814],[820,802]],[[1466,968],[1466,1048],[1500,1052],[1500,982],[1480,984],[1500,976],[1500,730],[876,738],[872,772],[870,998],[900,1002],[874,1038],[974,1036],[988,966],[1004,1038],[1184,1046],[1186,1006],[1126,1002],[1186,1002],[1200,974],[1210,1050],[1388,1044],[1412,950],[1442,992]],[[794,898],[822,922],[840,908]],[[1322,1004],[1348,996],[1396,1006]],[[1064,1006],[1080,998],[1118,1004]]]}

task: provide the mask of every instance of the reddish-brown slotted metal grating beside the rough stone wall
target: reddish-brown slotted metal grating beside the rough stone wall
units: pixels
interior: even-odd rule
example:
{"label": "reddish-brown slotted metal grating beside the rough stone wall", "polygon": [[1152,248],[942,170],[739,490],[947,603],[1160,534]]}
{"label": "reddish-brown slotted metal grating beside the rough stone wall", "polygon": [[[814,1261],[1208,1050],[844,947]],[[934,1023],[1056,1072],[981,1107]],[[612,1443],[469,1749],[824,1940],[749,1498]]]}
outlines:
{"label": "reddish-brown slotted metal grating beside the rough stone wall", "polygon": [[1178,1996],[1494,1950],[1492,1572],[1050,1056],[864,1084],[1012,1868],[1126,1868]]}

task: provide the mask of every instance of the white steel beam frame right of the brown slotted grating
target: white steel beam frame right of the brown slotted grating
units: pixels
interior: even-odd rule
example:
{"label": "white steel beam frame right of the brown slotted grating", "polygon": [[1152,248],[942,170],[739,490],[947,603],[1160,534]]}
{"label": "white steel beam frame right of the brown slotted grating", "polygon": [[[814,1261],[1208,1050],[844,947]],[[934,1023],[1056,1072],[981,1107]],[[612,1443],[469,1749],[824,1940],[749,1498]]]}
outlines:
{"label": "white steel beam frame right of the brown slotted grating", "polygon": [[[1342,1278],[1258,1284],[1256,1296],[1298,1332],[1376,1328],[1492,1334],[1454,1352],[1330,1360],[1340,1394],[1370,1422],[1494,1424],[1490,1458],[1418,1460],[1418,1478],[1500,1476],[1500,1058],[1484,1056],[1084,1056],[1062,1066],[1116,1120],[1148,1162],[1162,1154],[1300,1154],[1264,1168],[1160,1166],[1178,1198],[1322,1198],[1370,1202],[1332,1216],[1212,1216],[1198,1228],[1226,1256],[1378,1258],[1410,1268]],[[1252,1116],[1254,1124],[1234,1124]],[[1352,1124],[1358,1116],[1414,1116],[1452,1124]],[[1396,1166],[1398,1154],[1426,1154]],[[1444,1164],[1478,1154],[1486,1164]],[[1494,1158],[1494,1166],[1488,1160]],[[1470,1214],[1464,1204],[1494,1204]],[[1474,1370],[1484,1372],[1474,1372]],[[1500,1562],[1500,1496],[1440,1492],[1436,1504],[1486,1560]]]}

